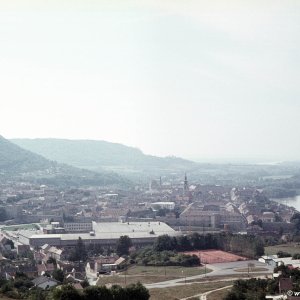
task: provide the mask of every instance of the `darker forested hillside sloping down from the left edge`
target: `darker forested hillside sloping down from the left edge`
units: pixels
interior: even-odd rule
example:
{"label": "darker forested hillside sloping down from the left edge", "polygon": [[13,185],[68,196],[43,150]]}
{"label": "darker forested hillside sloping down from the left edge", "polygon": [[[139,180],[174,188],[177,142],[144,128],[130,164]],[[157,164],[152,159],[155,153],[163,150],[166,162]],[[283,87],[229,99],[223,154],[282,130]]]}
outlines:
{"label": "darker forested hillside sloping down from the left edge", "polygon": [[0,136],[0,177],[23,178],[39,183],[79,185],[121,185],[129,182],[112,172],[96,173],[57,163]]}

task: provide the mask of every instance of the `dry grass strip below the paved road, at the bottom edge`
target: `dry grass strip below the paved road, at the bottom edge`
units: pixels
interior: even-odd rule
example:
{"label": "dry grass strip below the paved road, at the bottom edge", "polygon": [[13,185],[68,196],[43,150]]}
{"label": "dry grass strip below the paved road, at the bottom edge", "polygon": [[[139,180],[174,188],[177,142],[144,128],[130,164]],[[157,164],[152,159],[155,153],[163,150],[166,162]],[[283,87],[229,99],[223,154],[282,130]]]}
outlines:
{"label": "dry grass strip below the paved road, at the bottom edge", "polygon": [[[182,286],[164,288],[164,289],[151,289],[150,300],[177,300],[194,295],[205,293],[217,288],[221,288],[232,284],[232,282],[210,282],[205,284],[187,284]],[[220,298],[218,298],[220,300]]]}

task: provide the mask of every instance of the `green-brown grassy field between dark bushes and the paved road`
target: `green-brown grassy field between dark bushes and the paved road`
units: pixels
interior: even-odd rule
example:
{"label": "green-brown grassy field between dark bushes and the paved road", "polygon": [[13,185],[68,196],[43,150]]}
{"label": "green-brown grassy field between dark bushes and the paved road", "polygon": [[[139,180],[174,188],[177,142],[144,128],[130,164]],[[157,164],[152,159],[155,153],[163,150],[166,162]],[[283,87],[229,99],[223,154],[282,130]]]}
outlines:
{"label": "green-brown grassy field between dark bushes and the paved road", "polygon": [[[211,270],[206,268],[206,273],[211,272]],[[127,271],[122,272],[120,275],[107,276],[103,275],[98,280],[98,285],[103,284],[119,284],[124,286],[130,283],[153,283],[160,282],[171,279],[184,278],[186,276],[194,276],[205,273],[204,267],[193,267],[193,268],[184,268],[184,267],[145,267],[145,266],[134,266],[128,268]],[[126,278],[125,278],[126,277]]]}

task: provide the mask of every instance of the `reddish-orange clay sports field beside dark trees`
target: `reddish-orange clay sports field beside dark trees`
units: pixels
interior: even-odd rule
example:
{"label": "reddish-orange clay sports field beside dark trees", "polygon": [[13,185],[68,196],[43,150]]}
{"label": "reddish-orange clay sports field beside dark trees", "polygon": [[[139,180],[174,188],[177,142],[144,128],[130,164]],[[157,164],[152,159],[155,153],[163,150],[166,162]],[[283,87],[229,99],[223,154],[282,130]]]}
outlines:
{"label": "reddish-orange clay sports field beside dark trees", "polygon": [[200,258],[201,264],[215,264],[232,261],[247,260],[246,257],[235,255],[222,250],[201,250],[184,252],[189,255],[197,255]]}

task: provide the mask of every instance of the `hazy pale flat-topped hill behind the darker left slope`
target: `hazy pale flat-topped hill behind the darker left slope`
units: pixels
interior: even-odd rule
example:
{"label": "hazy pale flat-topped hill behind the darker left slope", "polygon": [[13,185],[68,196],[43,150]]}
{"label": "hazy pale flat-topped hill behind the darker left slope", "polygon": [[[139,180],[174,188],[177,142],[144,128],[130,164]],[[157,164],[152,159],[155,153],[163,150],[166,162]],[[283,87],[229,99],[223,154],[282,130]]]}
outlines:
{"label": "hazy pale flat-topped hill behind the darker left slope", "polygon": [[196,163],[177,157],[156,157],[122,144],[95,140],[13,139],[15,144],[44,157],[89,170],[119,173],[187,170]]}

